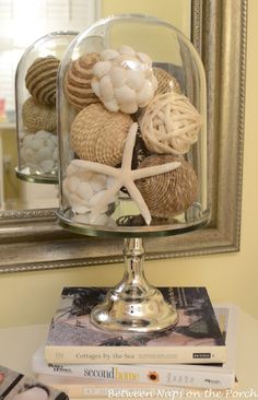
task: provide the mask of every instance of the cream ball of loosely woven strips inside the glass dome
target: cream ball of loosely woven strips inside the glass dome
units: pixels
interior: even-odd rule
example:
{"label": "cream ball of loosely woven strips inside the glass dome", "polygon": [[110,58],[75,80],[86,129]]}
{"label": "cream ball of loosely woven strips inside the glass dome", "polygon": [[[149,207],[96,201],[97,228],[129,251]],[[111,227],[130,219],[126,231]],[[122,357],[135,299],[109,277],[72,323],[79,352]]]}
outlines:
{"label": "cream ball of loosely woven strips inside the glass dome", "polygon": [[190,101],[175,92],[156,95],[140,120],[146,148],[157,154],[187,153],[201,126],[201,115]]}

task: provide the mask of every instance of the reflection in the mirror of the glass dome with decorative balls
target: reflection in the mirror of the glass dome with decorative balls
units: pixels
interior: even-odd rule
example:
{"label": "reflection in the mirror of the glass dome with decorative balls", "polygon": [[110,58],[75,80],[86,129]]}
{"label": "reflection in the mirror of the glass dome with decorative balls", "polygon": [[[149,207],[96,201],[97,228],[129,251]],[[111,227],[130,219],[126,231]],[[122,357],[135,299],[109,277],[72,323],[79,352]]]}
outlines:
{"label": "reflection in the mirror of the glass dome with decorative balls", "polygon": [[56,184],[58,140],[56,89],[63,51],[77,32],[54,32],[22,56],[15,75],[19,165],[16,176],[26,181]]}

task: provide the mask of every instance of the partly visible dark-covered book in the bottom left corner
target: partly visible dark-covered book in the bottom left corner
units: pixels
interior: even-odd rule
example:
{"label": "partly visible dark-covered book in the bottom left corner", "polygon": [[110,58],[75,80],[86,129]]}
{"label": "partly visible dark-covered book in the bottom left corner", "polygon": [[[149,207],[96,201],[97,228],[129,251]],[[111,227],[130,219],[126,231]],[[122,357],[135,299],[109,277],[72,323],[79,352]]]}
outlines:
{"label": "partly visible dark-covered book in the bottom left corner", "polygon": [[57,389],[36,379],[0,366],[0,400],[69,400]]}

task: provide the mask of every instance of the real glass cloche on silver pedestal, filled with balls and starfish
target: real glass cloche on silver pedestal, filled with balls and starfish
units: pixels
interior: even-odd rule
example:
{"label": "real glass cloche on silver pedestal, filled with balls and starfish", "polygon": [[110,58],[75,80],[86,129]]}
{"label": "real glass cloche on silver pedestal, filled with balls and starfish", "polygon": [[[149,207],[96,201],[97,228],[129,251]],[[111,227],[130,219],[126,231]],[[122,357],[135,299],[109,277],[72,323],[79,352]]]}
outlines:
{"label": "real glass cloche on silver pedestal, filled with balls and starfish", "polygon": [[192,44],[155,17],[117,15],[79,35],[58,77],[60,224],[120,236],[126,273],[92,321],[149,332],[177,320],[142,270],[141,238],[209,221],[206,77]]}

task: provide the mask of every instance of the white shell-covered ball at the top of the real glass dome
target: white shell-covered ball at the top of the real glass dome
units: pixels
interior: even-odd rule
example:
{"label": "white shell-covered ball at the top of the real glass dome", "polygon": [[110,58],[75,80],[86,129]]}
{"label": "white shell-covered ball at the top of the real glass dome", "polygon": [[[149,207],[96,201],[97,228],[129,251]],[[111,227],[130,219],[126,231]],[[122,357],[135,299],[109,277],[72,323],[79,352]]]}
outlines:
{"label": "white shell-covered ball at the top of the real glass dome", "polygon": [[137,113],[153,98],[157,87],[151,58],[129,46],[102,51],[93,74],[93,92],[113,113]]}

